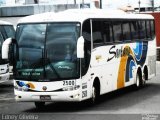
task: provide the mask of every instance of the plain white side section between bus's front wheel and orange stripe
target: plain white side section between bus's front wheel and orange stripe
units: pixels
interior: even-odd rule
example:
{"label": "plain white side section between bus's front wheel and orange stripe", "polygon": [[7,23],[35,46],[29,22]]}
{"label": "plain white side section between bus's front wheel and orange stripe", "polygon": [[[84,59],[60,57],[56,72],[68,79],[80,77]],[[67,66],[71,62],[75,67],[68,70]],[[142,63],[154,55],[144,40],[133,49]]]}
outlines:
{"label": "plain white side section between bus's front wheel and orange stripe", "polygon": [[[119,65],[118,59],[113,59],[115,54],[108,54],[113,46],[101,46],[97,47],[92,52],[91,66],[92,72],[95,74],[95,77],[98,77],[100,80],[101,94],[113,91],[114,84],[117,82],[117,66]],[[113,48],[115,51],[115,48]],[[109,60],[112,58],[112,60]]]}

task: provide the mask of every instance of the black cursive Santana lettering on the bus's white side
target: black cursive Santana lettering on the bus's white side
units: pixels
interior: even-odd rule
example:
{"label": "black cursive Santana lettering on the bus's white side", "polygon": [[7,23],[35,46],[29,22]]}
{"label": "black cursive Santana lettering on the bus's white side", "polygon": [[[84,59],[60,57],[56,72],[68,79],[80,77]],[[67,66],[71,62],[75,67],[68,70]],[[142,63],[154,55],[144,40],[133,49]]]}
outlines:
{"label": "black cursive Santana lettering on the bus's white side", "polygon": [[111,61],[113,58],[119,58],[124,56],[129,56],[131,54],[131,48],[130,47],[121,47],[120,49],[115,49],[115,45],[112,46],[109,50],[109,54],[112,55],[112,57],[109,57],[107,59],[107,62]]}

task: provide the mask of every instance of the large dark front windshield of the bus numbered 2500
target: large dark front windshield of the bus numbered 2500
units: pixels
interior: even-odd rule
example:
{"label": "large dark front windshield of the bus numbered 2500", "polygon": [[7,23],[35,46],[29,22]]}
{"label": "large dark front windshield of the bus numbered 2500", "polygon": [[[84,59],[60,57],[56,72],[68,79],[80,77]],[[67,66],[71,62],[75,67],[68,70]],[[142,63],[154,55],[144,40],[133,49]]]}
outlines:
{"label": "large dark front windshield of the bus numbered 2500", "polygon": [[77,39],[80,23],[17,26],[16,79],[52,81],[80,76]]}

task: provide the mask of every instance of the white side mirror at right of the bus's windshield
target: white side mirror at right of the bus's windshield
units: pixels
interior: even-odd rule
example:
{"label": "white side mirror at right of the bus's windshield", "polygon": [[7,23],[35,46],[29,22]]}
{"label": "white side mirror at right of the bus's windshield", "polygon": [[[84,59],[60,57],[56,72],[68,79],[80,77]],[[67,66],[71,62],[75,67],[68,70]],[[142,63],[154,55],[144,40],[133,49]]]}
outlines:
{"label": "white side mirror at right of the bus's windshield", "polygon": [[79,37],[77,41],[77,58],[84,58],[84,38],[83,36]]}

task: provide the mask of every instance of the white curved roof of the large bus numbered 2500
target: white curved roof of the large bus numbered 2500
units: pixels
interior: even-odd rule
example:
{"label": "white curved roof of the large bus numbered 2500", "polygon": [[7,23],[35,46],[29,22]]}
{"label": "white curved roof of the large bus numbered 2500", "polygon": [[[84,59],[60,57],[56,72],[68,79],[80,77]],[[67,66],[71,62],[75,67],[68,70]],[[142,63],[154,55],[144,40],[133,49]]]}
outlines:
{"label": "white curved roof of the large bus numbered 2500", "polygon": [[102,9],[70,9],[58,13],[47,12],[24,17],[18,23],[40,22],[83,22],[89,18],[118,18],[118,19],[154,19],[152,15],[129,14],[122,11]]}

